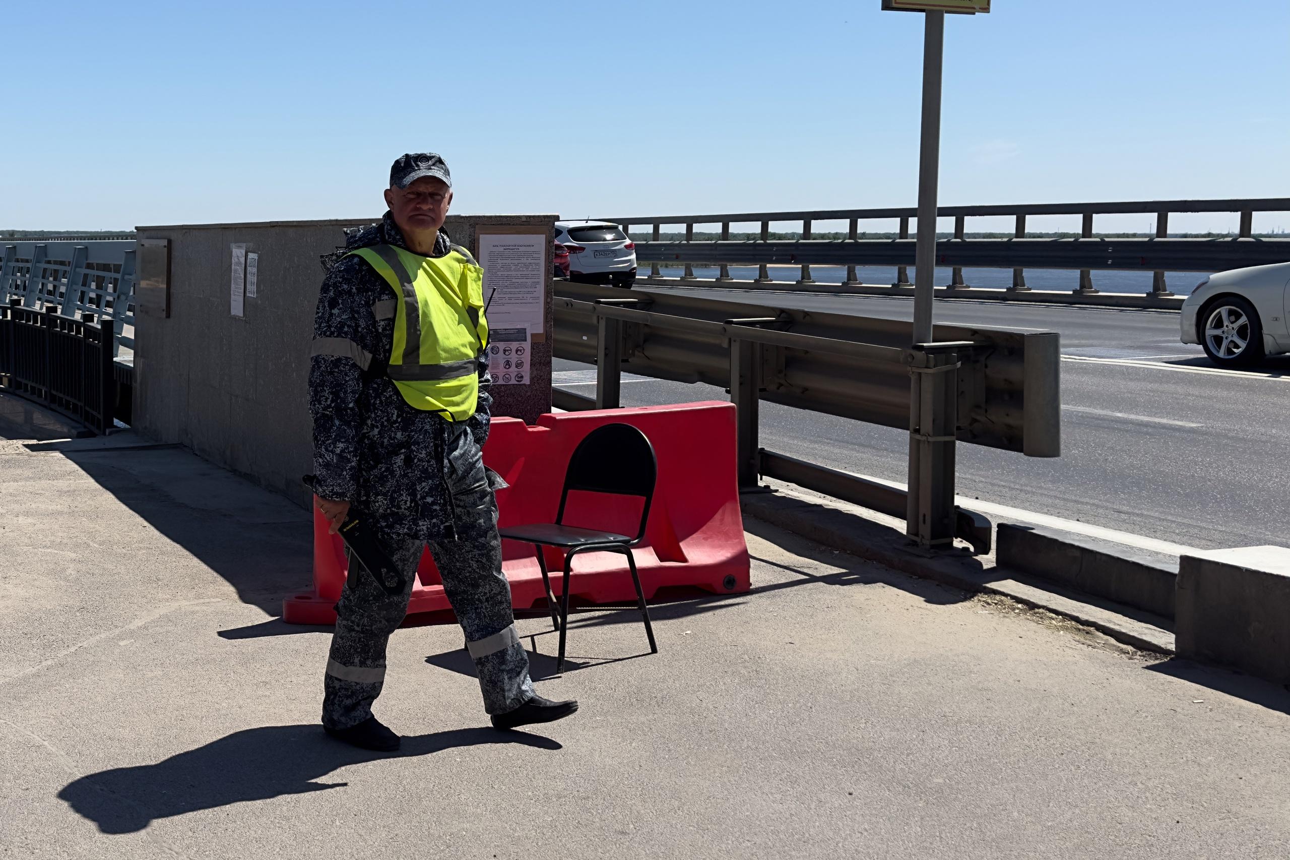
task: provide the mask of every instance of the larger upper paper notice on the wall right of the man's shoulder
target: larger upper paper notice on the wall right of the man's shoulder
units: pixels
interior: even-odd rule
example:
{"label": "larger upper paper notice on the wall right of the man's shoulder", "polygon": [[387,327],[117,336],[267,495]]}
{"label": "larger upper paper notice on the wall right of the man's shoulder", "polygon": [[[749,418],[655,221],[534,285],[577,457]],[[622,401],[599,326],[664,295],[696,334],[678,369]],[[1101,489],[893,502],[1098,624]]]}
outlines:
{"label": "larger upper paper notice on the wall right of the man's shoulder", "polygon": [[547,234],[482,234],[484,302],[489,325],[541,334],[546,316]]}

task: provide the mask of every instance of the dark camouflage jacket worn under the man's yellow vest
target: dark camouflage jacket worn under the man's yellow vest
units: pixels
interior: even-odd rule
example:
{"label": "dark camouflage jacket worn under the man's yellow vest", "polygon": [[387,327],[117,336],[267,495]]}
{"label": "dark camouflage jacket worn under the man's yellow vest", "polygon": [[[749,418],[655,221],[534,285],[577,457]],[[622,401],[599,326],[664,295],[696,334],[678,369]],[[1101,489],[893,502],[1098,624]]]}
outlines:
{"label": "dark camouflage jacket worn under the man's yellow vest", "polygon": [[[388,377],[360,367],[369,362],[383,367],[390,360],[395,320],[373,306],[386,302],[384,307],[391,307],[397,297],[366,261],[346,254],[382,243],[408,245],[388,212],[381,223],[347,231],[346,239],[343,249],[322,257],[326,276],[319,291],[313,340],[316,351],[343,351],[335,343],[356,349],[353,356],[315,354],[310,359],[315,492],[352,502],[381,532],[422,540],[452,537],[455,529],[444,478],[449,466],[445,452],[457,449],[449,440],[462,427],[433,412],[414,409]],[[449,249],[448,234],[440,231],[435,256]],[[317,350],[322,338],[333,347]],[[479,374],[479,405],[466,429],[482,447],[493,400],[485,356]]]}

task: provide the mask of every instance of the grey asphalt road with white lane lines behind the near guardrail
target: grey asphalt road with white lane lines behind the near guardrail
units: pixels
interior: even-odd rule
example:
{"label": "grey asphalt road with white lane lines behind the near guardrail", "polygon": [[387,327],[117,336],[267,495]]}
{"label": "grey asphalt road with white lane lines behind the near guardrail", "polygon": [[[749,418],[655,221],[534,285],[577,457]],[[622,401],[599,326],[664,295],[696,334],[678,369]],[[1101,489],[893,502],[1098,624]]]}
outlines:
{"label": "grey asphalt road with white lane lines behind the near guardrail", "polygon": [[[676,292],[897,319],[913,309],[906,298]],[[960,495],[1186,546],[1290,545],[1290,360],[1219,371],[1179,342],[1169,311],[938,301],[937,322],[1062,334],[1062,457],[958,445]],[[588,369],[557,362],[556,384],[590,394]],[[662,380],[623,386],[624,405],[706,399],[726,394]],[[906,479],[907,436],[888,427],[766,403],[761,444]]]}

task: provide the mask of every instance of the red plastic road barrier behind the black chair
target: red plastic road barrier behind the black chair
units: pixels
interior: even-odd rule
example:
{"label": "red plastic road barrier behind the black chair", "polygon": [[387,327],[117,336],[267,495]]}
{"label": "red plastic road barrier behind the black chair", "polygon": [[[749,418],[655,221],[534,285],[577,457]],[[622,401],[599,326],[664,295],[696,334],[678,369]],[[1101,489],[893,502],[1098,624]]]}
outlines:
{"label": "red plastic road barrier behind the black chair", "polygon": [[[494,418],[484,462],[511,486],[498,491],[501,524],[552,522],[560,505],[565,467],[573,449],[596,427],[623,422],[640,427],[658,455],[658,488],[645,541],[635,549],[646,599],[660,588],[690,585],[719,594],[748,590],[748,548],[743,538],[735,480],[734,405],[684,403],[632,409],[544,415],[537,426]],[[613,469],[613,464],[606,464]],[[565,522],[635,535],[640,501],[599,493],[570,493]],[[512,603],[543,604],[542,572],[533,548],[502,544],[502,569]],[[546,549],[551,586],[560,594],[564,553]],[[288,624],[334,624],[335,602],[346,578],[343,544],[328,535],[313,513],[313,591],[283,602]],[[427,551],[418,568],[408,613],[450,609],[435,560]],[[615,553],[583,553],[574,559],[570,594],[591,603],[636,600],[627,560]]]}

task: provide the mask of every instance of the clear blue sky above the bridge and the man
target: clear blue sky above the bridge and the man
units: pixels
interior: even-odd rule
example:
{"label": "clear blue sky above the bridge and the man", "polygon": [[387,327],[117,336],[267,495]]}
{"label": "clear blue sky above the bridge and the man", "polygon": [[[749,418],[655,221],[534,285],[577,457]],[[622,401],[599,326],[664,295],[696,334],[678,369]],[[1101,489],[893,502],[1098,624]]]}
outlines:
{"label": "clear blue sky above the bridge and the man", "polygon": [[[421,150],[462,213],[916,199],[922,17],[878,0],[63,1],[0,30],[0,227],[377,214]],[[1286,0],[996,0],[946,30],[943,204],[1290,195]]]}

